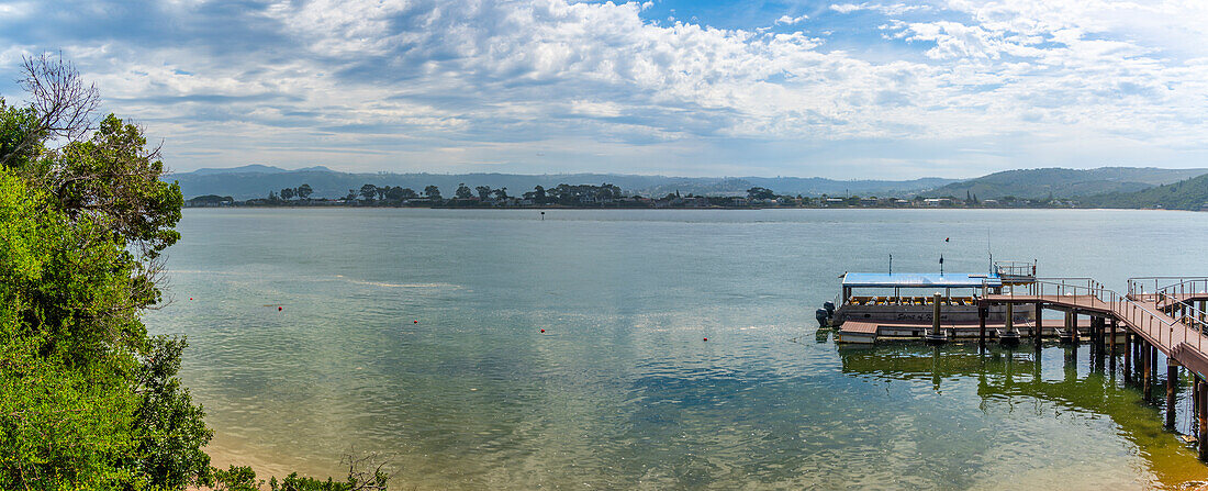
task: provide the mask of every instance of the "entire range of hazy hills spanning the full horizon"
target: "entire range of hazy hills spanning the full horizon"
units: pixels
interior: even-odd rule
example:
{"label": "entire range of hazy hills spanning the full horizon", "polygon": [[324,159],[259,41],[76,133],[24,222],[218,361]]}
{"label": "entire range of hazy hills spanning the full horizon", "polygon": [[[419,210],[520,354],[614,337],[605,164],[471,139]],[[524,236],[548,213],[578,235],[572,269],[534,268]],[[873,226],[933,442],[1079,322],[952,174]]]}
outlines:
{"label": "entire range of hazy hills spanning the full horizon", "polygon": [[[782,195],[817,197],[830,196],[954,196],[976,195],[980,200],[1015,196],[1017,198],[1079,198],[1110,195],[1113,200],[1129,193],[1186,180],[1208,169],[1161,169],[1152,167],[1102,167],[1097,169],[1039,168],[998,172],[980,178],[957,180],[923,178],[913,180],[835,180],[824,178],[676,178],[635,174],[429,174],[429,173],[347,173],[326,167],[283,169],[271,166],[234,168],[204,168],[188,173],[169,174],[164,180],[179,181],[186,198],[202,195],[232,196],[236,200],[265,197],[269,191],[309,184],[315,197],[342,197],[365,184],[402,186],[422,191],[436,185],[451,196],[457,186],[506,187],[519,195],[534,186],[553,187],[558,184],[614,184],[625,191],[643,196],[681,195],[730,196],[744,195],[750,187],[767,187]],[[1138,195],[1145,200],[1150,195]],[[1107,197],[1102,200],[1108,200]],[[1191,200],[1189,197],[1189,200]],[[1107,201],[1103,201],[1107,202]],[[1196,204],[1198,209],[1198,204]]]}

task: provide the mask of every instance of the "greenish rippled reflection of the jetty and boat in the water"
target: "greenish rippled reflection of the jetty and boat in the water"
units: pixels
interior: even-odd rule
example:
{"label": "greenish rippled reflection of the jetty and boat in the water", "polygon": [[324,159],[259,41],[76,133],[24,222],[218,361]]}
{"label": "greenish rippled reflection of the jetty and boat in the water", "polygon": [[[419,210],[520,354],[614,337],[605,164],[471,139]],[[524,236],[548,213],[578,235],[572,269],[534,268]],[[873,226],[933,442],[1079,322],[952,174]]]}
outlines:
{"label": "greenish rippled reflection of the jetty and boat in the water", "polygon": [[[824,341],[821,336],[820,333],[819,341]],[[1030,432],[1053,431],[1067,433],[1069,445],[1115,446],[1117,452],[1126,451],[1139,460],[1134,466],[1154,474],[1152,481],[1140,483],[1146,486],[1171,486],[1204,478],[1194,446],[1181,438],[1192,434],[1194,424],[1191,383],[1185,375],[1179,382],[1175,424],[1163,427],[1165,394],[1155,391],[1146,400],[1139,375],[1126,381],[1122,363],[1116,363],[1115,370],[1110,369],[1110,363],[1096,363],[1086,345],[1050,343],[1034,351],[1030,346],[978,348],[976,343],[924,346],[902,342],[875,347],[847,345],[838,347],[838,353],[842,372],[850,376],[888,382],[924,381],[935,395],[948,399],[960,392],[971,392],[977,400],[980,415],[976,416],[1000,420],[998,434],[989,438],[1001,438],[1006,443],[999,449],[1001,454],[986,452],[985,458],[1018,458],[1023,463],[1034,457],[1011,456],[1009,441],[1027,439]],[[1158,366],[1165,368],[1165,362],[1160,359]],[[1155,376],[1156,387],[1165,382],[1165,376]],[[1103,431],[1109,429],[1104,426],[1110,427],[1110,433],[1125,445],[1102,441]],[[1051,439],[1052,434],[1046,437]],[[1061,454],[1069,455],[1068,451]],[[1088,454],[1086,460],[1069,462],[1070,479],[1082,480],[1096,472],[1093,460],[1093,454]]]}

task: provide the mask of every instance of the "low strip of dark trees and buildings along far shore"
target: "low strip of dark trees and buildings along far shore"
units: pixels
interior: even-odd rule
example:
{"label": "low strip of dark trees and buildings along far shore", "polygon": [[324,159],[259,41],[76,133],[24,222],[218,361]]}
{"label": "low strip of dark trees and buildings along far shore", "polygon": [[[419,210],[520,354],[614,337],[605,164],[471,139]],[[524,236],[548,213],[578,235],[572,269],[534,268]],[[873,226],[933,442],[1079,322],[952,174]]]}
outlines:
{"label": "low strip of dark trees and buildings along far shore", "polygon": [[751,187],[745,196],[696,196],[678,191],[651,197],[629,193],[611,184],[535,186],[517,196],[507,187],[470,187],[461,184],[451,196],[437,186],[422,191],[400,186],[366,184],[348,190],[338,198],[312,197],[310,185],[271,191],[262,198],[238,201],[230,196],[205,195],[186,201],[186,207],[412,207],[412,208],[1076,208],[1074,200],[1016,198],[978,200],[966,192],[964,197],[941,196],[912,198],[878,196],[778,195],[766,187]]}

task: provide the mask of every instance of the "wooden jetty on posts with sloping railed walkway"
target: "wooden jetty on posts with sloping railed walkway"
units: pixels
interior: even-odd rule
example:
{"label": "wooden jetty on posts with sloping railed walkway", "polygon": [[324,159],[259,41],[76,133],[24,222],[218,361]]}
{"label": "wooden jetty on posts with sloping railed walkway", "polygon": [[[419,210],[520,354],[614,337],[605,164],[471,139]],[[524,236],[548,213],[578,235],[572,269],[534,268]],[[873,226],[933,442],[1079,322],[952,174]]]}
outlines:
{"label": "wooden jetty on posts with sloping railed walkway", "polygon": [[[1126,380],[1140,379],[1145,398],[1150,398],[1156,380],[1158,354],[1166,358],[1166,423],[1175,422],[1175,395],[1179,368],[1194,377],[1194,412],[1200,458],[1208,461],[1208,277],[1146,277],[1128,279],[1128,293],[1119,294],[1090,278],[1036,278],[1026,283],[992,285],[976,296],[978,310],[977,340],[985,345],[995,330],[1007,330],[1030,337],[1040,350],[1041,337],[1064,333],[1074,343],[1088,337],[1093,360],[1103,366],[1122,352]],[[939,310],[940,304],[936,304]],[[987,323],[992,308],[1006,308],[1004,323]],[[1011,312],[1032,312],[1032,320],[1014,322]],[[1045,311],[1064,312],[1064,319],[1044,319]],[[1088,319],[1079,320],[1080,316]],[[849,320],[850,322],[850,320]],[[1056,325],[1050,325],[1056,324]],[[854,334],[877,333],[884,323],[854,323]],[[916,328],[918,324],[916,323]],[[931,328],[965,329],[966,325]],[[843,330],[848,328],[844,323]]]}

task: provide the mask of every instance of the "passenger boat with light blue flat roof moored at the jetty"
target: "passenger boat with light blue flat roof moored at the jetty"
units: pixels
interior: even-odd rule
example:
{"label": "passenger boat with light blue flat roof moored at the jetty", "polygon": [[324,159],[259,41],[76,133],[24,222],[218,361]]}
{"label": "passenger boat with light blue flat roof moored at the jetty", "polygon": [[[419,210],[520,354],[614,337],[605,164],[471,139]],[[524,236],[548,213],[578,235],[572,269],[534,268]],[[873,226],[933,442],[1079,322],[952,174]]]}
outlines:
{"label": "passenger boat with light blue flat roof moored at the jetty", "polygon": [[977,339],[986,330],[988,336],[1011,342],[1021,334],[1030,335],[1035,327],[1032,310],[1011,312],[1012,322],[1007,323],[1007,306],[978,305],[983,295],[1035,282],[1035,262],[992,262],[986,273],[848,272],[842,279],[835,300],[815,311],[821,327],[837,329],[837,342],[893,339],[943,342]]}

